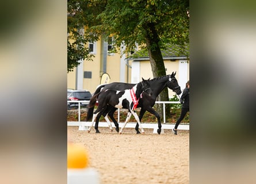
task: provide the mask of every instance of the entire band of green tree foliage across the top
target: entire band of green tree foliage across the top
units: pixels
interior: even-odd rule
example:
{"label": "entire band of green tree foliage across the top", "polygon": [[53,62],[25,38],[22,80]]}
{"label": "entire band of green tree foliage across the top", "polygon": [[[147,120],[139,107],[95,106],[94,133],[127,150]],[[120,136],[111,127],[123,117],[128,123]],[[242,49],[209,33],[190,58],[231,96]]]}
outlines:
{"label": "entire band of green tree foliage across the top", "polygon": [[[78,60],[91,59],[85,45],[102,34],[114,35],[116,51],[124,42],[127,53],[136,43],[146,45],[148,38],[147,49],[152,51],[168,43],[181,47],[189,43],[188,0],[69,0],[67,5],[68,71],[78,66]],[[81,36],[78,30],[83,28]]]}

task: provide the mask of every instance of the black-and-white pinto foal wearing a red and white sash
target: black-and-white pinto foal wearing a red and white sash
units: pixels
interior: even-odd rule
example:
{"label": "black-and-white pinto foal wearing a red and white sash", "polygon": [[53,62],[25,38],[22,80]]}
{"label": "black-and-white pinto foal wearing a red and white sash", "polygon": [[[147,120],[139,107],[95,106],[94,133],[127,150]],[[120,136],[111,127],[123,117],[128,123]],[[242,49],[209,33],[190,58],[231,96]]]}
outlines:
{"label": "black-and-white pinto foal wearing a red and white sash", "polygon": [[[108,109],[109,106],[112,106],[114,108],[119,108],[119,109],[123,109],[123,108],[128,109],[129,114],[133,114],[137,123],[139,124],[139,127],[142,129],[142,133],[144,133],[144,130],[140,125],[139,117],[135,112],[135,109],[137,108],[137,104],[139,103],[139,99],[142,93],[144,92],[148,96],[151,96],[152,90],[150,88],[150,83],[148,82],[149,79],[144,80],[142,78],[142,80],[143,80],[142,82],[137,83],[135,86],[133,86],[132,89],[127,89],[124,91],[107,89],[105,91],[101,91],[100,93],[93,95],[93,97],[90,99],[88,107],[91,108],[95,106],[95,103],[98,100],[98,108],[93,113],[93,120],[91,121],[91,126],[87,131],[90,132],[90,129],[91,127],[93,127],[94,120],[96,117],[98,117],[98,114],[102,114],[102,112]],[[121,131],[119,133],[122,132],[125,125],[126,123],[121,128]],[[98,131],[98,127],[96,128],[95,126],[95,129],[96,129],[96,133],[100,133]]]}

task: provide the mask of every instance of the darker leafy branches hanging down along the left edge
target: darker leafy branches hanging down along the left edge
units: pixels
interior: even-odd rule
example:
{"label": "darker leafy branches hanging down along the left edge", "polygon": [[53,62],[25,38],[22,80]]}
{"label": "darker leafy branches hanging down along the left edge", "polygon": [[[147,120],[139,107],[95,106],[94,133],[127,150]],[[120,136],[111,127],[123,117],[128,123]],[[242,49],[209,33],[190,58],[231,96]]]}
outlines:
{"label": "darker leafy branches hanging down along the left edge", "polygon": [[[100,30],[91,29],[95,17],[104,10],[105,1],[69,0],[67,3],[67,72],[73,71],[81,60],[91,60],[89,41],[97,41]],[[87,28],[87,29],[85,29]]]}

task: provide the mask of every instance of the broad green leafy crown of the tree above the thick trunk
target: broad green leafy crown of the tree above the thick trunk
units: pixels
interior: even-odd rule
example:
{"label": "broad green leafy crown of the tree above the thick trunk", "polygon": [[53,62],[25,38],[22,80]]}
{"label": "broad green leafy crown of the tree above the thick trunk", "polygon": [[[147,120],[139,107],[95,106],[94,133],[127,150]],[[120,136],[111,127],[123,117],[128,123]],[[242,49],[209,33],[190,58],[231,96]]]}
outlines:
{"label": "broad green leafy crown of the tree above the thick trunk", "polygon": [[102,20],[101,29],[106,34],[115,34],[116,43],[125,41],[128,51],[146,43],[146,34],[153,35],[150,26],[154,26],[160,38],[155,44],[189,43],[189,1],[125,1],[110,0],[97,18]]}

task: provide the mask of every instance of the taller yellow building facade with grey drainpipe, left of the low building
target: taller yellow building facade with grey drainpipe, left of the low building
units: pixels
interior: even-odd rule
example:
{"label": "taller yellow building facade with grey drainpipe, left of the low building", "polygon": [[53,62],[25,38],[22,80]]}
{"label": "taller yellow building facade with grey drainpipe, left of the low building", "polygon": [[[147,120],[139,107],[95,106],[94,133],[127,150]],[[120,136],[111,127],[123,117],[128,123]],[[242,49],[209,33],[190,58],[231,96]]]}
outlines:
{"label": "taller yellow building facade with grey drainpipe, left of the low building", "polygon": [[95,43],[89,43],[93,61],[83,60],[78,67],[67,74],[68,89],[86,89],[91,93],[101,84],[101,76],[108,74],[108,82],[131,83],[131,68],[125,60],[125,55],[120,52],[109,52],[111,43],[101,37]]}

